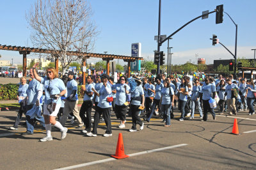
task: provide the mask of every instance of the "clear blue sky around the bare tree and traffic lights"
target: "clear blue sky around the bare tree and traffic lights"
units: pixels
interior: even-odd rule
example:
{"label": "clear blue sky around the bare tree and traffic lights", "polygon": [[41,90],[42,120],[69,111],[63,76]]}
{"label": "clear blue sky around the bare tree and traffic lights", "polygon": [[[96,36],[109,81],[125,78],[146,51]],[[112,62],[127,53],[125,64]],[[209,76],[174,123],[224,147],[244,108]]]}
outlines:
{"label": "clear blue sky around the bare tree and traffic lights", "polygon": [[[2,0],[0,6],[0,44],[32,47],[25,13],[36,0]],[[161,35],[170,35],[191,19],[202,15],[202,12],[213,11],[223,4],[224,11],[238,25],[237,56],[253,58],[256,48],[255,0],[161,0]],[[158,33],[159,0],[88,0],[93,10],[93,21],[100,31],[95,41],[93,52],[131,56],[131,43],[141,43],[141,57],[154,58],[157,42],[154,36]],[[212,34],[220,38],[234,53],[236,27],[224,13],[223,23],[215,24],[215,13],[208,19],[192,22],[170,40],[173,47],[172,63],[182,64],[198,58],[205,58],[207,64],[214,59],[231,59],[232,56],[220,44],[212,46]],[[167,42],[161,46],[167,56]],[[22,63],[19,52],[0,50],[1,60]],[[28,58],[35,58],[31,54]],[[90,59],[95,63],[97,59]],[[120,61],[120,63],[124,63]]]}

